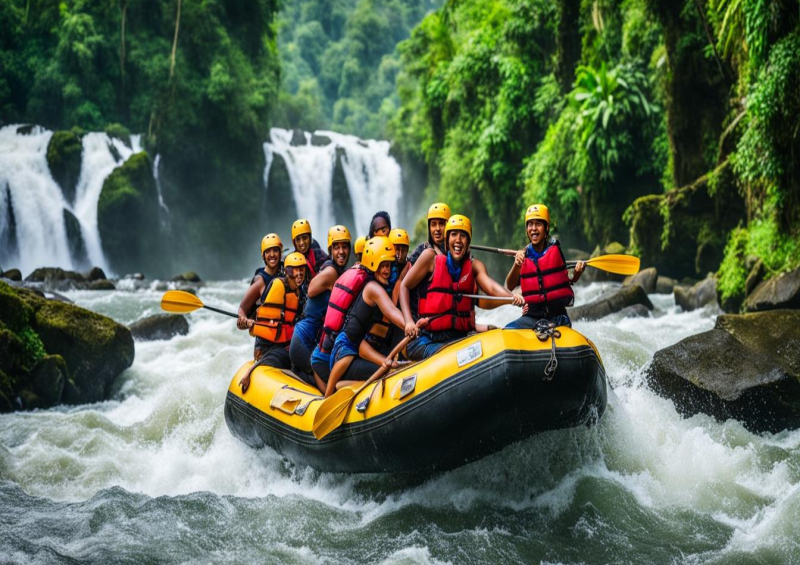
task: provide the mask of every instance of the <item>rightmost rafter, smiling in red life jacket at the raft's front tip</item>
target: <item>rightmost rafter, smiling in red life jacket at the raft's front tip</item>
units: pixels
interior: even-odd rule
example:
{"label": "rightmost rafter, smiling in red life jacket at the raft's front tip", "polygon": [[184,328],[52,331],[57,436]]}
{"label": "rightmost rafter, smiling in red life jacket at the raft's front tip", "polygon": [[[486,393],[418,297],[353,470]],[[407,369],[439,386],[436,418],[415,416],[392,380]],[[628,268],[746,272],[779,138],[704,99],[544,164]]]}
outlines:
{"label": "rightmost rafter, smiling in red life jacket at the raft's front tip", "polygon": [[572,326],[567,306],[572,306],[575,294],[572,285],[578,282],[586,264],[578,261],[572,278],[561,244],[550,238],[550,211],[544,204],[533,204],[525,212],[525,232],[530,243],[517,251],[514,264],[506,276],[506,288],[522,287],[527,312],[509,323],[506,328],[534,328],[546,319],[557,326]]}

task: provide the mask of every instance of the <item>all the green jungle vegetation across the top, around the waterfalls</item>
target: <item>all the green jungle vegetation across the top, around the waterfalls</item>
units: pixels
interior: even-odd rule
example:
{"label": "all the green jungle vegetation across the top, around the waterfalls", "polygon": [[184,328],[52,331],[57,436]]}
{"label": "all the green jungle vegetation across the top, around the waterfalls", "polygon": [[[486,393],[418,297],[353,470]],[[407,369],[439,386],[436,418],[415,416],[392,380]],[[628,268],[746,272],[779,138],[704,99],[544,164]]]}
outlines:
{"label": "all the green jungle vegetation across the top, around the waterfalls", "polygon": [[0,26],[2,123],[144,133],[211,270],[258,237],[271,126],[389,138],[482,242],[546,202],[566,246],[714,272],[731,309],[800,266],[797,0],[2,0]]}

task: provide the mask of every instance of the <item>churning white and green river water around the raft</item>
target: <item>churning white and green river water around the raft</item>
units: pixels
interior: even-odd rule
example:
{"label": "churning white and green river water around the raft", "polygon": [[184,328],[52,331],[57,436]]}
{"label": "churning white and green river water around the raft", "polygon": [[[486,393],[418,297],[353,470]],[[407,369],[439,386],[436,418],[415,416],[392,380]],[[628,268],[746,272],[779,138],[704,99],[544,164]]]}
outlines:
{"label": "churning white and green river water around the raft", "polygon": [[[235,310],[244,287],[199,296]],[[160,294],[69,296],[130,323]],[[113,400],[0,416],[0,562],[800,563],[800,431],[684,419],[653,394],[653,353],[716,312],[651,299],[652,318],[575,324],[613,387],[597,427],[415,478],[321,474],[233,438],[225,391],[252,342],[195,312],[188,335],[136,344]]]}

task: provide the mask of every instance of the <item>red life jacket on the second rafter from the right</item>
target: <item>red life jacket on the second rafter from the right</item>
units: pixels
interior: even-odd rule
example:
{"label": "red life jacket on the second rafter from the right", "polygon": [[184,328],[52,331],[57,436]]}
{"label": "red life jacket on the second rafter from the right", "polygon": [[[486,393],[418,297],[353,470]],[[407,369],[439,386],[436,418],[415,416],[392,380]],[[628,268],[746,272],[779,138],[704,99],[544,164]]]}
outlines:
{"label": "red life jacket on the second rafter from the right", "polygon": [[467,257],[461,265],[461,277],[453,282],[447,270],[447,255],[437,255],[433,263],[433,274],[425,296],[419,299],[419,317],[434,318],[425,328],[429,332],[456,330],[468,332],[475,329],[475,308],[471,298],[457,296],[475,294],[477,290],[472,273],[472,259]]}

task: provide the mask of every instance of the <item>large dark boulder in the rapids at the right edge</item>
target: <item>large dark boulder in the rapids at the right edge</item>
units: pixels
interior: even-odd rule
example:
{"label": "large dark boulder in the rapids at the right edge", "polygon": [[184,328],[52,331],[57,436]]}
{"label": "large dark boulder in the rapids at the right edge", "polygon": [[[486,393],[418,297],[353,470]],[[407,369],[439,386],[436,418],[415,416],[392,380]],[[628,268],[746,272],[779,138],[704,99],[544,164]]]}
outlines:
{"label": "large dark boulder in the rapids at the right edge", "polygon": [[800,311],[721,315],[657,351],[647,375],[684,415],[735,418],[755,432],[800,427]]}

